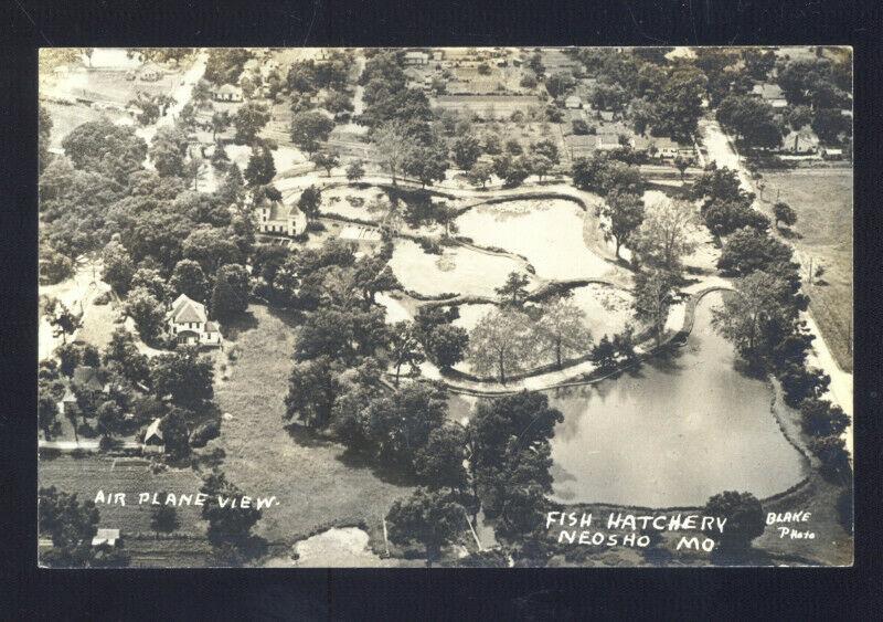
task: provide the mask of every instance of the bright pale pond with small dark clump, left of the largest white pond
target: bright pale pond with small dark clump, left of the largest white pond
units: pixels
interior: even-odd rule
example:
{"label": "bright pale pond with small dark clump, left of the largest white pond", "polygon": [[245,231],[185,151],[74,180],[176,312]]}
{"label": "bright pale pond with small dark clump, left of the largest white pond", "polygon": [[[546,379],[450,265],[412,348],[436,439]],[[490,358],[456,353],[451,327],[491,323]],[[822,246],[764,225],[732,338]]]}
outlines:
{"label": "bright pale pond with small dark clump, left of the largest white pond", "polygon": [[523,272],[512,257],[462,246],[445,246],[436,255],[411,240],[396,240],[390,266],[405,288],[426,295],[496,296],[494,287],[502,285],[510,272]]}

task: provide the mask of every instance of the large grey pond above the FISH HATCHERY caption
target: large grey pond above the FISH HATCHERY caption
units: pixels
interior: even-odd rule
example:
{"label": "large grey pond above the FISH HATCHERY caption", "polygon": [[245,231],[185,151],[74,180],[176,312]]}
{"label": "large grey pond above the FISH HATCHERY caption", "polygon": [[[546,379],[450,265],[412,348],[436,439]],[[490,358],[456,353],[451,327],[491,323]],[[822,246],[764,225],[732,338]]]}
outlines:
{"label": "large grey pond above the FISH HATCHERY caption", "polygon": [[701,506],[722,491],[758,498],[806,471],[769,410],[772,390],[734,368],[733,347],[711,326],[721,295],[696,309],[684,348],[634,375],[550,392],[564,413],[552,440],[562,503]]}

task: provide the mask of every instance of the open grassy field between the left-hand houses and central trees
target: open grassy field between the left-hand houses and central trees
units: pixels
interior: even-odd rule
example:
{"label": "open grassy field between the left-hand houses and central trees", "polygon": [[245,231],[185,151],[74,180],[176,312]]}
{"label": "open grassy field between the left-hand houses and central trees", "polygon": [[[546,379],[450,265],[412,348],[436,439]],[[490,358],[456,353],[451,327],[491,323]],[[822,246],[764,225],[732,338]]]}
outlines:
{"label": "open grassy field between the left-hand houses and central trees", "polygon": [[[227,352],[235,348],[236,360],[216,363],[215,401],[225,415],[221,436],[206,450],[225,452],[221,468],[245,494],[278,498],[278,506],[264,510],[257,535],[294,542],[343,523],[380,524],[411,487],[353,463],[337,443],[286,428],[284,399],[295,329],[288,318],[264,306],[248,310],[249,317],[233,327],[225,346]],[[226,366],[227,380],[221,365]]]}

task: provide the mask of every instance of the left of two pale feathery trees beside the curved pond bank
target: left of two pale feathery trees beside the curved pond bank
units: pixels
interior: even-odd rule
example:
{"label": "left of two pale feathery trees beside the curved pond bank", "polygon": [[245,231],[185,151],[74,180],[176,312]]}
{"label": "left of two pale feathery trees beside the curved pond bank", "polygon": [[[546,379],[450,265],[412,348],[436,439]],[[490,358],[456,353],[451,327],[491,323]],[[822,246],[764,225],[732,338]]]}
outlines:
{"label": "left of two pale feathery trees beside the curved pond bank", "polygon": [[533,356],[532,323],[523,313],[493,309],[469,335],[469,360],[476,373],[493,373],[500,382],[526,369]]}

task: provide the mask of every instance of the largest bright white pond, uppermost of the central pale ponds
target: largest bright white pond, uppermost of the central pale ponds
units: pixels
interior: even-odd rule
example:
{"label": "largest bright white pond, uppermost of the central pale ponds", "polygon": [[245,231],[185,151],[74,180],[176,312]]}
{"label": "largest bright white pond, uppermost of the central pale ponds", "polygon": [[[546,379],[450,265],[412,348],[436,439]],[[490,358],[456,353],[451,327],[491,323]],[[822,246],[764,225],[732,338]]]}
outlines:
{"label": "largest bright white pond, uppermost of the central pale ponds", "polygon": [[[592,221],[594,226],[594,221]],[[586,213],[566,199],[519,199],[478,205],[457,219],[476,244],[528,257],[544,278],[600,276],[610,264],[586,244]]]}

